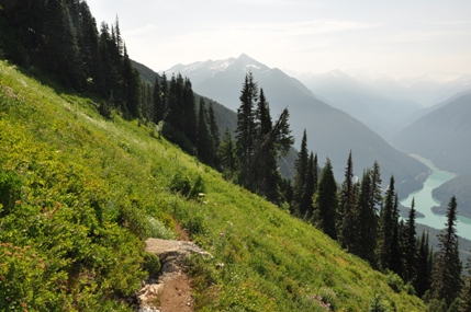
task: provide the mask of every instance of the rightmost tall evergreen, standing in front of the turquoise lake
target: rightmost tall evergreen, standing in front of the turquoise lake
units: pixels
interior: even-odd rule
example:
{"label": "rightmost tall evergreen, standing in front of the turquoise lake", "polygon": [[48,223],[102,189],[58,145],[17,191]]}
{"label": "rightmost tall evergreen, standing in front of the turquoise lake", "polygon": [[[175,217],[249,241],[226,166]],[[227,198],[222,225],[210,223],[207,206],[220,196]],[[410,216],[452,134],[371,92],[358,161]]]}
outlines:
{"label": "rightmost tall evergreen, standing in front of the turquoise lake", "polygon": [[447,209],[447,223],[438,235],[439,251],[434,266],[433,291],[438,300],[445,300],[449,307],[460,294],[462,288],[461,262],[458,254],[457,199],[451,197]]}

